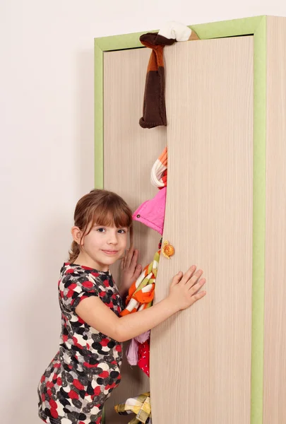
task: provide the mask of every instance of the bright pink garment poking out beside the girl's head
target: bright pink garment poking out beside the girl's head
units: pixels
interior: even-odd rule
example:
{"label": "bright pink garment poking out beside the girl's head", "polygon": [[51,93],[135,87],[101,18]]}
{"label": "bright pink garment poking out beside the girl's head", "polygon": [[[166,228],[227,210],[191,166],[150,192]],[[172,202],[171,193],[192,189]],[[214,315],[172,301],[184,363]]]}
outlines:
{"label": "bright pink garment poking out beside the girl's head", "polygon": [[163,187],[151,200],[145,201],[133,213],[133,220],[147,225],[153,230],[163,234],[165,220],[167,187]]}

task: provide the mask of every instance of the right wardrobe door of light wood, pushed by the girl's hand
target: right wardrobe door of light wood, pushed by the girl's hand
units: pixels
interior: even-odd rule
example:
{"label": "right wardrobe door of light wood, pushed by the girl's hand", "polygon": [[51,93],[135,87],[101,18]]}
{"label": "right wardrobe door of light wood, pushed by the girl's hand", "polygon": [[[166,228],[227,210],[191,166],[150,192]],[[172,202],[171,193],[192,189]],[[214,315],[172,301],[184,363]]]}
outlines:
{"label": "right wardrobe door of light wood, pushed by the girl's hand", "polygon": [[207,295],[151,332],[153,424],[249,424],[253,37],[165,49],[168,180],[155,302],[196,264]]}

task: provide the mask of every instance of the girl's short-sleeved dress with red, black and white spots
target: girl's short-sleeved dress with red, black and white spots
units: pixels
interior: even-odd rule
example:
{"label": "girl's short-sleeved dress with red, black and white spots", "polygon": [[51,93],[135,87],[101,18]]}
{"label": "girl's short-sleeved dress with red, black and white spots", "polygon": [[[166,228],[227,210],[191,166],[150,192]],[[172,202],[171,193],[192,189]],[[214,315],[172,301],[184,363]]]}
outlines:
{"label": "girl's short-sleeved dress with red, black and white spots", "polygon": [[51,424],[100,424],[102,407],[121,375],[121,343],[93,329],[75,310],[98,296],[117,316],[124,305],[110,271],[64,264],[59,278],[59,352],[38,387],[39,416]]}

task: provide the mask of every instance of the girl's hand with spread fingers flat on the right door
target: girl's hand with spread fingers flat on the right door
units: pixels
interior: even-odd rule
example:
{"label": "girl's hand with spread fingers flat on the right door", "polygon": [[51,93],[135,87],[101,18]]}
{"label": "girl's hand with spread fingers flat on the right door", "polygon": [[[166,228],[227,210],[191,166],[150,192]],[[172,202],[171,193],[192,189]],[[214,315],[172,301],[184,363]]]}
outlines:
{"label": "girl's hand with spread fingers flat on the right door", "polygon": [[196,266],[193,265],[186,273],[179,271],[172,279],[167,299],[177,307],[178,311],[186,309],[205,296],[205,291],[198,293],[205,284],[205,278],[199,281],[203,271],[201,269],[195,271]]}

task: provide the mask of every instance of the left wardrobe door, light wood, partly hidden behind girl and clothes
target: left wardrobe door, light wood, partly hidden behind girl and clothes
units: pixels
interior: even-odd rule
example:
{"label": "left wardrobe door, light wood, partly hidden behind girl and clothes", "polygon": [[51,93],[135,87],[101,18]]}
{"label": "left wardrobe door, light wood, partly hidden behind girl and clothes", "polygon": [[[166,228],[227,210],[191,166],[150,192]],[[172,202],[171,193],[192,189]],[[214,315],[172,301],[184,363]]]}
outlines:
{"label": "left wardrobe door, light wood, partly hidden behind girl and clothes", "polygon": [[[153,198],[157,189],[150,184],[153,163],[167,145],[165,127],[142,129],[145,77],[150,49],[129,49],[104,54],[104,187],[118,193],[134,211]],[[134,245],[140,263],[153,260],[160,234],[134,223]],[[112,269],[115,281],[119,264]],[[129,342],[124,343],[124,348]],[[114,405],[149,390],[149,379],[138,367],[122,365],[122,380],[107,401],[106,424],[128,423],[131,416],[119,416]]]}

